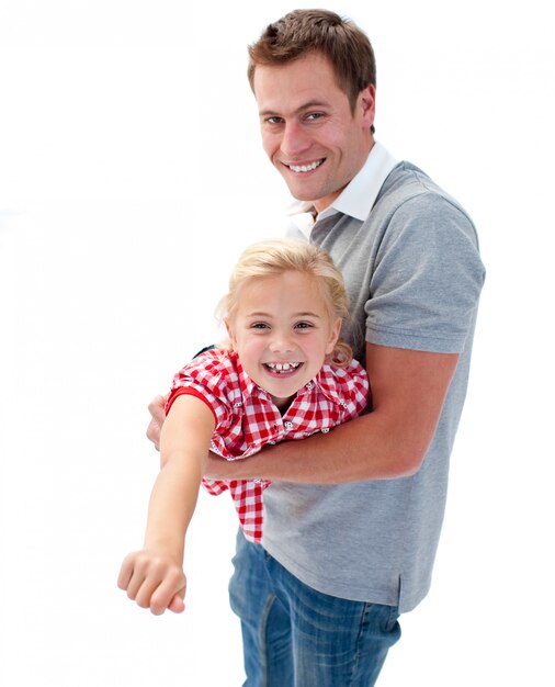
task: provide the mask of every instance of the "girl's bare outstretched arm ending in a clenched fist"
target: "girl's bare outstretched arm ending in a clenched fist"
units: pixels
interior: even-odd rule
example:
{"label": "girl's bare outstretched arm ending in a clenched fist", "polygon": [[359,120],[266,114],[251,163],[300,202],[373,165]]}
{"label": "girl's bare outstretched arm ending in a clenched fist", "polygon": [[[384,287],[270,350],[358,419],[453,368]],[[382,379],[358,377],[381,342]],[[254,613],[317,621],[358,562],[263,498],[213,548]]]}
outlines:
{"label": "girl's bare outstretched arm ending in a clenched fist", "polygon": [[126,556],[117,579],[131,599],[155,615],[184,609],[184,539],[214,427],[208,406],[190,395],[175,398],[163,423],[161,470],[150,496],[144,548]]}

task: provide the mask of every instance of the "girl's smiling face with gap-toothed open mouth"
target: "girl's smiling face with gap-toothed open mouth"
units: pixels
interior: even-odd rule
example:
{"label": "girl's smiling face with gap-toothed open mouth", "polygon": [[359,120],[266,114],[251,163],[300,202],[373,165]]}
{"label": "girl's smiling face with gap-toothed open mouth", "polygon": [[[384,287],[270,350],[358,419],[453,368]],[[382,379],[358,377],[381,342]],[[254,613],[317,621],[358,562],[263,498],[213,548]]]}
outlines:
{"label": "girl's smiling face with gap-toothed open mouth", "polygon": [[291,270],[247,281],[226,325],[245,372],[283,409],[333,350],[341,319],[331,322],[316,278]]}

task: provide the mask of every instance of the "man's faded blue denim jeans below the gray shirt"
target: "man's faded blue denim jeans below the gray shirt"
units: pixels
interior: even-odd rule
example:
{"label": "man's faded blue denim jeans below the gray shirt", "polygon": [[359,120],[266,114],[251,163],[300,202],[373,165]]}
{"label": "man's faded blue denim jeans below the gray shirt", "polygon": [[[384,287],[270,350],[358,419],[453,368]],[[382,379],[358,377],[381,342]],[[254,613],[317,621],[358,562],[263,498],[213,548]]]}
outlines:
{"label": "man's faded blue denim jeans below the gray shirt", "polygon": [[243,687],[372,687],[400,637],[397,608],[320,594],[239,532],[229,583]]}

